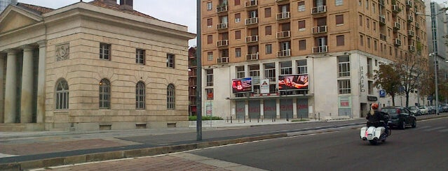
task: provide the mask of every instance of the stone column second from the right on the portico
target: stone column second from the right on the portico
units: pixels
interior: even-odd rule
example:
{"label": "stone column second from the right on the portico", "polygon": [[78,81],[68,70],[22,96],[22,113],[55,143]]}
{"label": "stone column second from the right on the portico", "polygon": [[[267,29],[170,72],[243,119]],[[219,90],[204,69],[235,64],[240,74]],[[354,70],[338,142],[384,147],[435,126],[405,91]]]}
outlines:
{"label": "stone column second from the right on the portico", "polygon": [[22,94],[20,98],[20,123],[33,121],[33,48],[23,47]]}

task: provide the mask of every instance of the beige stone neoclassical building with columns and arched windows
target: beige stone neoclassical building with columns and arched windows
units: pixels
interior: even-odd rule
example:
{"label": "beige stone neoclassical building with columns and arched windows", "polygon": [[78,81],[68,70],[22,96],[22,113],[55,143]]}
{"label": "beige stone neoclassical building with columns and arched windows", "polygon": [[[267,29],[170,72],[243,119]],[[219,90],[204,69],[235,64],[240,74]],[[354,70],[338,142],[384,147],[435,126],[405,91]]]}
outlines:
{"label": "beige stone neoclassical building with columns and arched windows", "polygon": [[0,14],[0,130],[187,126],[195,35],[121,3]]}

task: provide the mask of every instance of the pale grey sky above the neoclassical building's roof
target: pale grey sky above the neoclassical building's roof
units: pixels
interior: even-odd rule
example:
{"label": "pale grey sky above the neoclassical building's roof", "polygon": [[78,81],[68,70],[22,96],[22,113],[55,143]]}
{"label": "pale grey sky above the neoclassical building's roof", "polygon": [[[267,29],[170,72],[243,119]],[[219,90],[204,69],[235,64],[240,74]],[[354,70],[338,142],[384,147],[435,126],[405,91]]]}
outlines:
{"label": "pale grey sky above the neoclassical building's roof", "polygon": [[[18,0],[18,2],[57,9],[79,0]],[[196,0],[134,0],[134,10],[156,17],[158,20],[184,25],[188,27],[190,33],[196,34]],[[195,45],[196,39],[189,41],[189,46]]]}

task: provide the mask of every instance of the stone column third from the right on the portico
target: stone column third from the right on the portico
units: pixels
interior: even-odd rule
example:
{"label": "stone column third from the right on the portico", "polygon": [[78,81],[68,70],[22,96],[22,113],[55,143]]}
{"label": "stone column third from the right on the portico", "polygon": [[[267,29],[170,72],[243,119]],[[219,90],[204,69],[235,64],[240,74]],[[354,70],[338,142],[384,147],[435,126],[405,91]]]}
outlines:
{"label": "stone column third from the right on the portico", "polygon": [[7,50],[6,57],[6,87],[5,87],[5,123],[15,123],[17,115],[17,56],[16,50]]}

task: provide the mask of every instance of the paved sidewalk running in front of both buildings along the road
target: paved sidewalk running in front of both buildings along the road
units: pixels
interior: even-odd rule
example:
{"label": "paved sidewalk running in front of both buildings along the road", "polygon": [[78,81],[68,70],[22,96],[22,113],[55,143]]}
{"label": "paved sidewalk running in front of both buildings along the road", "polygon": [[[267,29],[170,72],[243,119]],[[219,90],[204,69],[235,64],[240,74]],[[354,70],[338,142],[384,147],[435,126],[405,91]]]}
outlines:
{"label": "paved sidewalk running in front of both buildings along the road", "polygon": [[[420,116],[418,119],[433,117],[448,117],[448,114],[439,116],[431,114]],[[288,136],[286,131],[276,132],[275,129],[281,126],[287,126],[288,130],[292,130],[290,132],[294,132],[307,131],[310,127],[315,128],[313,130],[318,130],[325,126],[332,128],[335,125],[356,126],[361,124],[365,124],[365,119],[328,122],[315,120],[247,122],[246,120],[245,123],[228,123],[224,121],[212,123],[211,127],[210,122],[205,121],[203,123],[203,141],[201,142],[196,141],[196,126],[124,131],[0,132],[0,170],[45,168],[53,165],[154,156],[222,144]]]}

